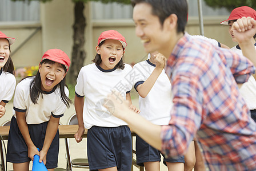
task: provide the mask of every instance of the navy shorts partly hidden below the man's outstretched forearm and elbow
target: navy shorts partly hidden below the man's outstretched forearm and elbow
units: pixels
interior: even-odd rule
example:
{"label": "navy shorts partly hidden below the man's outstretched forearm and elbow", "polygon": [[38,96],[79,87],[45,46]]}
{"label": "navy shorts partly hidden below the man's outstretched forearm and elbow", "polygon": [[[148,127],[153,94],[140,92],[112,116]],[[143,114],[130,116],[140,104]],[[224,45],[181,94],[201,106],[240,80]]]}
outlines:
{"label": "navy shorts partly hidden below the man's outstretched forearm and elbow", "polygon": [[[141,137],[136,136],[136,160],[137,160],[137,165],[139,166],[144,166],[144,162],[154,162],[154,161],[161,161],[161,156],[162,154],[159,150],[155,149],[153,146],[149,145],[146,143],[146,141],[142,140]],[[163,164],[166,165],[166,162],[183,162],[184,161],[184,156],[178,157],[178,158],[165,158],[163,156]]]}

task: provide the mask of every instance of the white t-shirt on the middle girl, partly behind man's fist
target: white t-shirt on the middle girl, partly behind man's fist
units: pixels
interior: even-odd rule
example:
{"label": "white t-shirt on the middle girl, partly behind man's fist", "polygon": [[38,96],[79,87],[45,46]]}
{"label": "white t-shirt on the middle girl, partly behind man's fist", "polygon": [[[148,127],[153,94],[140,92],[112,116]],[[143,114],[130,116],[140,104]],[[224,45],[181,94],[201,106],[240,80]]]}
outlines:
{"label": "white t-shirt on the middle girl, partly behind man's fist", "polygon": [[124,121],[114,117],[103,107],[105,98],[115,90],[126,98],[126,93],[130,92],[132,84],[130,83],[129,72],[131,66],[125,64],[125,68],[103,70],[95,63],[81,68],[75,93],[78,97],[85,96],[83,105],[83,123],[85,128],[90,129],[92,126],[98,127],[119,127],[127,125]]}

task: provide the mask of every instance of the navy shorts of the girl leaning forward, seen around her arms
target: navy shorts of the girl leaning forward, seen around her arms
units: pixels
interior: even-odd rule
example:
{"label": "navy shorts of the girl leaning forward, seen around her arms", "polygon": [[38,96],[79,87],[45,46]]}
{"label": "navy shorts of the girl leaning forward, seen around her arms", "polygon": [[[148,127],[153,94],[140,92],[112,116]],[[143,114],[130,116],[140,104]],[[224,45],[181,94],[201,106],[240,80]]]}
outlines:
{"label": "navy shorts of the girl leaning forward, seen around her arms", "polygon": [[[33,141],[34,145],[42,149],[43,142],[45,141],[45,133],[48,122],[42,124],[28,124],[30,138]],[[58,165],[58,154],[59,154],[59,130],[57,131],[53,142],[50,145],[50,148],[47,152],[46,156],[46,168],[53,169],[57,168]],[[12,163],[22,163],[31,161],[29,157],[27,157],[27,145],[21,132],[19,131],[19,127],[17,124],[16,118],[13,116],[11,118],[11,125],[8,137],[7,144],[7,155],[6,160]]]}

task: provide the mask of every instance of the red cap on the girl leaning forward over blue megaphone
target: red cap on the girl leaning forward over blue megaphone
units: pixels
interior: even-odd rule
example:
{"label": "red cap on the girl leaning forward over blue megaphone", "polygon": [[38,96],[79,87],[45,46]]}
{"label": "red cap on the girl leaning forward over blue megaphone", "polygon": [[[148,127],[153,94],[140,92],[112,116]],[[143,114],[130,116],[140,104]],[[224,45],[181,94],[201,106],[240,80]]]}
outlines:
{"label": "red cap on the girl leaning forward over blue megaphone", "polygon": [[[67,54],[65,52],[63,52],[62,50],[59,50],[57,48],[47,50],[45,52],[45,54],[43,54],[42,60],[44,60],[44,59],[49,59],[54,62],[61,63],[61,64],[65,65],[67,70],[69,70],[69,66],[70,66],[69,56],[67,56]],[[41,62],[42,62],[42,60],[41,60]]]}

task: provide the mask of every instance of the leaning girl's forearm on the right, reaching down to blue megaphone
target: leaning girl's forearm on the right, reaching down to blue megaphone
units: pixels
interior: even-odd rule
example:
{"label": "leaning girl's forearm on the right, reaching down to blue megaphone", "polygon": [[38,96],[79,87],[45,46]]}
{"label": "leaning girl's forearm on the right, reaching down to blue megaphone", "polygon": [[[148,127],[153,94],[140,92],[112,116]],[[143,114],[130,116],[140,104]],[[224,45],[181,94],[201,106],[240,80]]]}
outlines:
{"label": "leaning girl's forearm on the right, reaching down to blue megaphone", "polygon": [[40,159],[39,162],[42,162],[46,164],[46,155],[50,148],[51,143],[53,142],[53,139],[58,131],[59,127],[59,117],[50,117],[50,120],[47,124],[46,133],[45,133],[45,141],[43,142],[43,148],[40,151]]}

